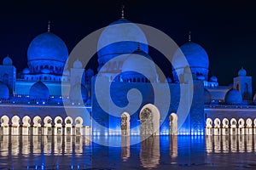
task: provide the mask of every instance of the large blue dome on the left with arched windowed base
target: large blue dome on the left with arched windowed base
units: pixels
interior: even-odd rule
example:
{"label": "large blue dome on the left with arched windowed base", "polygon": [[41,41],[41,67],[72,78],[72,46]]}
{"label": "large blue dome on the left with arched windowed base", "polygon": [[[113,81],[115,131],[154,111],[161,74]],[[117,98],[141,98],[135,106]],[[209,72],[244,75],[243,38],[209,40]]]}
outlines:
{"label": "large blue dome on the left with arched windowed base", "polygon": [[32,73],[47,68],[52,73],[61,73],[68,57],[66,44],[51,32],[35,37],[27,49],[27,65]]}

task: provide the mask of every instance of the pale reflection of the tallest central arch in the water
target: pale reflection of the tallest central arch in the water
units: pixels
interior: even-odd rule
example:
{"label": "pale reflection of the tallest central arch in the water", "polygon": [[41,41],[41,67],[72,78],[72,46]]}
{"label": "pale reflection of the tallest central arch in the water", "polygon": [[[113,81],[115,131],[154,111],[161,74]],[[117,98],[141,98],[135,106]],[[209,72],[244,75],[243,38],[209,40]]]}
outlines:
{"label": "pale reflection of the tallest central arch in the water", "polygon": [[141,142],[140,159],[143,167],[157,167],[160,161],[160,137],[150,136]]}

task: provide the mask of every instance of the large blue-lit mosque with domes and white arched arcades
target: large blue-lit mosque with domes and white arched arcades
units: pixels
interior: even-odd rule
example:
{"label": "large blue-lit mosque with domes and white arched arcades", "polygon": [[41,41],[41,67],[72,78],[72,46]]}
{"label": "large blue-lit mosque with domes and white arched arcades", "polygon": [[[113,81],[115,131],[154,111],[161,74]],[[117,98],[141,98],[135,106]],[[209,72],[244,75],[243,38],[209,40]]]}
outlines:
{"label": "large blue-lit mosque with domes and white arched arcades", "polygon": [[[122,18],[109,26],[129,23],[125,33],[139,42],[146,42],[143,31]],[[110,44],[110,39],[122,31],[106,27],[98,40],[98,47]],[[243,68],[234,77],[232,86],[219,86],[217,77],[208,77],[209,58],[207,51],[196,42],[189,41],[180,46],[186,57],[187,65],[180,65],[175,54],[172,69],[173,79],[160,82],[154,65],[143,64],[143,58],[153,60],[148,54],[148,45],[138,42],[115,42],[99,48],[98,73],[84,70],[82,62],[75,60],[67,67],[68,51],[65,42],[53,32],[48,31],[35,37],[28,45],[27,67],[16,72],[10,56],[0,65],[0,116],[1,134],[44,134],[44,135],[204,135],[256,133],[256,96],[253,97],[252,77]],[[113,60],[125,55],[122,60]],[[142,56],[137,57],[137,55]],[[175,63],[177,62],[177,63]],[[143,67],[150,74],[145,77],[136,72]],[[187,80],[191,72],[193,82]],[[82,77],[79,77],[81,75]],[[96,97],[96,77],[110,87],[111,101],[108,96]],[[182,82],[182,83],[181,83]],[[154,90],[160,96],[163,89],[170,89],[171,104],[165,100],[155,102]],[[125,107],[130,102],[136,106],[139,99],[131,96],[130,89],[142,94],[142,105],[137,111]],[[193,95],[186,114],[177,109],[180,91]],[[81,97],[80,97],[81,96]],[[129,100],[129,101],[128,101]],[[64,108],[65,103],[65,108]],[[102,109],[104,103],[107,109]],[[130,105],[129,103],[129,105]],[[133,107],[131,107],[133,108]],[[67,115],[67,110],[72,115]],[[181,111],[181,112],[183,112]],[[111,114],[109,114],[111,113]],[[185,117],[183,117],[185,115]],[[182,121],[182,123],[179,123]],[[255,127],[256,129],[256,127]]]}

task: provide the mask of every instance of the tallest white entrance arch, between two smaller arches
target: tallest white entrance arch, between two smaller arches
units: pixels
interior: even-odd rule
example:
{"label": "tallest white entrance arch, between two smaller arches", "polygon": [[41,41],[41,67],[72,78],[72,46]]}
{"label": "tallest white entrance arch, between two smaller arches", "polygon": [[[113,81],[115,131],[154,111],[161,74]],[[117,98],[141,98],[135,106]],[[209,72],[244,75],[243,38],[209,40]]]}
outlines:
{"label": "tallest white entrance arch, between two smaller arches", "polygon": [[155,105],[144,105],[139,114],[140,134],[159,135],[160,111]]}

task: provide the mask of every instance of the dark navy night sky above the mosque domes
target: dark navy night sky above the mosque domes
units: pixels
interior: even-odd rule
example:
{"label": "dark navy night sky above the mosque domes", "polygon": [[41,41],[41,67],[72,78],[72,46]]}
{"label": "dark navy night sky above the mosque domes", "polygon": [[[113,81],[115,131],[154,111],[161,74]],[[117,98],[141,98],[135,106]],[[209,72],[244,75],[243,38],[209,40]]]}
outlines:
{"label": "dark navy night sky above the mosque domes", "polygon": [[[21,3],[17,3],[21,2]],[[26,50],[38,34],[51,31],[69,52],[86,35],[120,18],[154,26],[182,45],[192,41],[207,50],[210,76],[228,85],[243,66],[256,85],[256,10],[247,1],[10,1],[0,3],[0,57],[9,54],[18,71],[26,67]],[[210,2],[210,3],[209,3]],[[157,60],[157,56],[152,56]],[[168,70],[164,68],[165,70]],[[171,68],[170,68],[171,71]]]}

